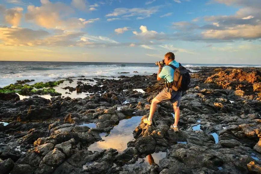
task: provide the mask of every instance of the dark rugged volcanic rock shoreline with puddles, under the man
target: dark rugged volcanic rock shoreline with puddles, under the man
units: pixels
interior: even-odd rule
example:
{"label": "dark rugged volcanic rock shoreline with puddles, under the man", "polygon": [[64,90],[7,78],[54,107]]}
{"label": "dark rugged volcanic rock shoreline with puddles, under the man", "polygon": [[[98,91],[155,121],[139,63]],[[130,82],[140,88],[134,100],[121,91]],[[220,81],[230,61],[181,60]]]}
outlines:
{"label": "dark rugged volcanic rock shoreline with puddles, under the man", "polygon": [[[182,95],[178,133],[170,130],[169,102],[157,106],[151,126],[142,122],[164,88],[156,74],[81,77],[66,90],[94,93],[83,99],[20,100],[15,93],[0,93],[0,171],[261,173],[260,68],[195,70]],[[92,80],[96,84],[85,84]]]}

